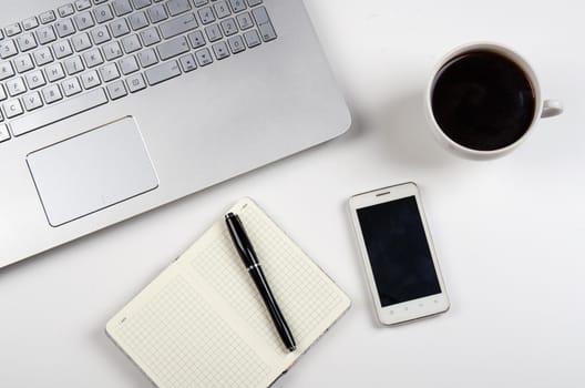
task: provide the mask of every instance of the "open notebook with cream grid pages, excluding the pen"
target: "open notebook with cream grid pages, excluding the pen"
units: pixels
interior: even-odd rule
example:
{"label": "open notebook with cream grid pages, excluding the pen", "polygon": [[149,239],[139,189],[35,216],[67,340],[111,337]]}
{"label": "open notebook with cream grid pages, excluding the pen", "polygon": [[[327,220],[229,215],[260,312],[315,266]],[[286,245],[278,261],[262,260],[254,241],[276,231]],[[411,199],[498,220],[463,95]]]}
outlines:
{"label": "open notebook with cream grid pages, excluding the pen", "polygon": [[161,388],[267,387],[350,306],[249,198],[238,214],[297,341],[289,353],[224,218],[116,314],[107,335]]}

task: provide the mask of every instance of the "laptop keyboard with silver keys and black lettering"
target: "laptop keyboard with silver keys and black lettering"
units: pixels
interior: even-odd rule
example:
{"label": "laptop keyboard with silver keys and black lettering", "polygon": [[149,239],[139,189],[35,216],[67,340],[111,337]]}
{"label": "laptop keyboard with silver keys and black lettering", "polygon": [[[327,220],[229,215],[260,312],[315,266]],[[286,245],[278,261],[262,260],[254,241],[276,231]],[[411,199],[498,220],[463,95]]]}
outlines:
{"label": "laptop keyboard with silver keys and black lettering", "polygon": [[263,0],[79,0],[0,30],[0,143],[277,38]]}

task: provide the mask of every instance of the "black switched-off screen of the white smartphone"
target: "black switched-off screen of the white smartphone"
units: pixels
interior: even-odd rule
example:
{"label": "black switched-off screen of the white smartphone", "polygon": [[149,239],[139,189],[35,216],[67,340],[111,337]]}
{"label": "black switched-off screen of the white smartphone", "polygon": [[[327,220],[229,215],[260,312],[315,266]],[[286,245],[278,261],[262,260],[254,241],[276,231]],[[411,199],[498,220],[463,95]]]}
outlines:
{"label": "black switched-off screen of the white smartphone", "polygon": [[414,196],[357,212],[382,307],[441,293]]}

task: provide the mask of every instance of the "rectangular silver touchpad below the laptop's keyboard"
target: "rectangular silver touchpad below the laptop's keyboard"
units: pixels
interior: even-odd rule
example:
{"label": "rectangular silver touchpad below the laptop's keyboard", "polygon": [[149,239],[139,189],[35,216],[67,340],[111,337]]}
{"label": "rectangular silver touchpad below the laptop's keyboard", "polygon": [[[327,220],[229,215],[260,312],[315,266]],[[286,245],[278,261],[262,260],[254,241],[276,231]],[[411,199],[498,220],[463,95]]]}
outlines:
{"label": "rectangular silver touchpad below the laptop's keyboard", "polygon": [[27,163],[51,226],[63,225],[158,186],[133,118],[32,152]]}

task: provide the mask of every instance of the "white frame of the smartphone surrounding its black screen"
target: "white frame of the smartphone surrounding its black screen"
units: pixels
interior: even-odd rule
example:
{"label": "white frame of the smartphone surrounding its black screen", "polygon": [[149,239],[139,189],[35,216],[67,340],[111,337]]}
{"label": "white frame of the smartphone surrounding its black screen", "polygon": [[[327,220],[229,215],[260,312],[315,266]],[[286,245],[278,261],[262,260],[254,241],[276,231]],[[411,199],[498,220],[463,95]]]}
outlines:
{"label": "white frame of the smartphone surrounding its black screen", "polygon": [[[422,219],[422,225],[424,227],[427,243],[429,244],[429,249],[431,252],[434,272],[437,274],[437,278],[439,279],[441,293],[382,307],[378,288],[376,286],[376,280],[373,278],[373,270],[370,264],[370,258],[366,248],[366,242],[363,241],[363,234],[361,231],[361,225],[359,223],[357,211],[362,207],[388,203],[409,196],[414,196],[417,201],[417,206]],[[362,258],[363,268],[366,270],[366,277],[370,288],[370,294],[372,296],[373,306],[380,323],[383,325],[397,325],[408,320],[419,319],[449,310],[449,297],[444,287],[443,276],[441,274],[441,268],[439,267],[437,253],[434,251],[431,233],[427,223],[424,211],[422,208],[422,204],[420,201],[420,192],[417,184],[412,182],[402,183],[399,185],[382,187],[371,192],[353,195],[349,198],[349,208],[351,213],[353,229],[356,232],[356,238],[360,251],[360,256]]]}

